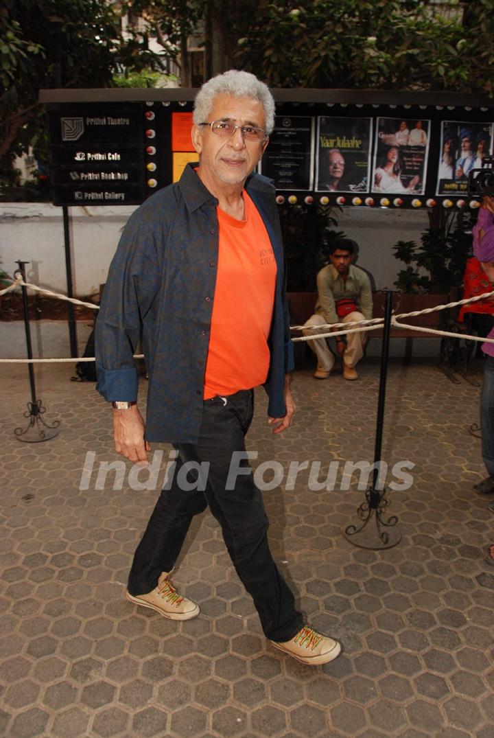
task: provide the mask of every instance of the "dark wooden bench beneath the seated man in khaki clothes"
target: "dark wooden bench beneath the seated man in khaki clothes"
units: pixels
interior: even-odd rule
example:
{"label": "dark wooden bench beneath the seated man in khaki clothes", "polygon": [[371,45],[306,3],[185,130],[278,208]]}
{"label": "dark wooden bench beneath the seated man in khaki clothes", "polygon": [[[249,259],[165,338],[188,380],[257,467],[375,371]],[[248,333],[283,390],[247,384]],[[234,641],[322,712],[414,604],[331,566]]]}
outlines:
{"label": "dark wooden bench beneath the seated man in khaki clothes", "polygon": [[[316,292],[288,292],[288,305],[290,309],[291,325],[303,325],[306,320],[313,315],[317,301]],[[447,294],[405,294],[403,292],[393,294],[394,313],[411,313],[416,310],[424,310],[437,305],[448,303]],[[372,317],[384,317],[384,306],[386,303],[386,294],[384,292],[372,293],[373,314]],[[400,323],[408,325],[417,325],[420,328],[441,329],[444,327],[449,317],[449,311],[441,310],[434,313],[426,313],[413,318],[403,318]],[[292,336],[301,336],[302,331],[292,331]],[[380,338],[383,336],[382,329],[371,331],[371,337]],[[408,331],[406,328],[392,328],[392,338],[404,338],[405,356],[404,362],[411,359],[414,338],[431,338],[431,334],[422,333],[421,331]]]}

